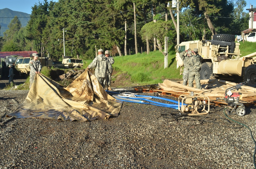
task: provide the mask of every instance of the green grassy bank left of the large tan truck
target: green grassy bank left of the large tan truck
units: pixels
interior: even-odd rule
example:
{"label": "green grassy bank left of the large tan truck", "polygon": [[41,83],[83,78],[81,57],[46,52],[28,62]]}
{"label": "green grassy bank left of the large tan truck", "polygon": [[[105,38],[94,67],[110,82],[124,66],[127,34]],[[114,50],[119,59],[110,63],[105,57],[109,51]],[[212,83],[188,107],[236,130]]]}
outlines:
{"label": "green grassy bank left of the large tan truck", "polygon": [[[138,53],[137,55],[116,56],[112,65],[115,77],[127,73],[131,76],[130,82],[138,85],[162,83],[164,79],[182,79],[179,68],[176,68],[175,49],[168,51],[168,67],[164,69],[164,55],[159,52]],[[84,67],[92,61],[86,60]],[[115,77],[112,80],[115,80]]]}

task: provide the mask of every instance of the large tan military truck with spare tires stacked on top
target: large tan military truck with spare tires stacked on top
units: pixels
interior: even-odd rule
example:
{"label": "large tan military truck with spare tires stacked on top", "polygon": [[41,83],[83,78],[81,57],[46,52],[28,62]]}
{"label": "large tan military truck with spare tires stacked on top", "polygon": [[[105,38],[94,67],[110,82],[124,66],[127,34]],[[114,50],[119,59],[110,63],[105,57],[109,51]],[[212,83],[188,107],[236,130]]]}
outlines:
{"label": "large tan military truck with spare tires stacked on top", "polygon": [[182,74],[183,61],[179,57],[180,52],[198,48],[198,54],[203,57],[201,79],[247,81],[248,86],[256,87],[256,52],[240,57],[239,45],[234,42],[234,36],[228,34],[214,35],[213,40],[182,42],[175,46],[177,68],[180,66]]}

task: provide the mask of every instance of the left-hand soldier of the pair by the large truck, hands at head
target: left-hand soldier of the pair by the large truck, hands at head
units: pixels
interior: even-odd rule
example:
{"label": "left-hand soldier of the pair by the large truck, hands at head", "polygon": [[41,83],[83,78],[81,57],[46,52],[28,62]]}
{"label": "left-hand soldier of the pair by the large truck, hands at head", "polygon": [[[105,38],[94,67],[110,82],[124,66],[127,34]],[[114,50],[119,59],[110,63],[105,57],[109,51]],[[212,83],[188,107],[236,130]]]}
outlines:
{"label": "left-hand soldier of the pair by the large truck, hands at head", "polygon": [[[187,53],[187,54],[186,54]],[[192,52],[191,51],[183,51],[179,54],[180,58],[183,60],[183,64],[184,64],[184,69],[183,69],[183,85],[187,85],[188,82],[188,75],[189,75],[189,64],[188,64],[188,59],[189,57],[192,56]]]}

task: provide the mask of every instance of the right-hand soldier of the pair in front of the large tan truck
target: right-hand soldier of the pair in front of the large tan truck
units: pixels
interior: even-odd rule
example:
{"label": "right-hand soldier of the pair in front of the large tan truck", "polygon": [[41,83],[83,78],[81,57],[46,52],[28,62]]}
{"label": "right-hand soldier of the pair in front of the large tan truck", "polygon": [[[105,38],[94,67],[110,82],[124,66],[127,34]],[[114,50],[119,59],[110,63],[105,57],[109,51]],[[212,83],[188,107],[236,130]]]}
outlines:
{"label": "right-hand soldier of the pair in front of the large tan truck", "polygon": [[196,88],[202,89],[201,83],[200,83],[200,69],[201,69],[201,63],[202,63],[202,56],[198,55],[198,49],[194,49],[192,51],[194,54],[192,57],[189,58],[189,77],[188,77],[188,85],[190,87],[193,87],[193,81],[195,79],[196,81]]}

